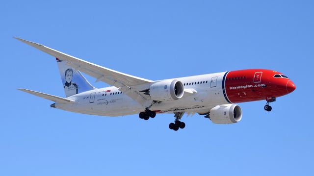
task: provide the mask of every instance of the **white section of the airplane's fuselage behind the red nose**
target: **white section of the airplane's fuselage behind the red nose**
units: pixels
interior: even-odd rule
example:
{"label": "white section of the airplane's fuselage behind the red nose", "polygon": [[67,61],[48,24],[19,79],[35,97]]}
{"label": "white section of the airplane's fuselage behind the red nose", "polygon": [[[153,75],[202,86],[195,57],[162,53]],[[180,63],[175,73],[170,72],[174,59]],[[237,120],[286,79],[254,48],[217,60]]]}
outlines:
{"label": "white section of the airplane's fuselage behind the red nose", "polygon": [[[224,98],[222,90],[222,81],[225,73],[175,78],[184,84],[184,89],[193,90],[197,93],[183,96],[183,98],[177,101],[156,103],[150,110],[157,111],[157,113],[185,111],[206,114],[216,105],[228,104],[229,102]],[[94,89],[79,93],[68,99],[74,100],[76,103],[56,103],[55,107],[72,112],[101,116],[138,114],[145,110],[144,106],[121,93],[116,87]]]}

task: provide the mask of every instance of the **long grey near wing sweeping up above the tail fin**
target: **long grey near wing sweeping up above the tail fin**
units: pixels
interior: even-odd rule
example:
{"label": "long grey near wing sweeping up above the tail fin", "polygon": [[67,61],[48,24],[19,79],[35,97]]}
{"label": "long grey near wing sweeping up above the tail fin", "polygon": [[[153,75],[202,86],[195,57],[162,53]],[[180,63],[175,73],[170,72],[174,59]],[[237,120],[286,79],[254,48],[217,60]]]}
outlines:
{"label": "long grey near wing sweeping up above the tail fin", "polygon": [[103,81],[109,85],[120,88],[119,89],[120,91],[122,91],[124,94],[128,95],[133,100],[139,102],[142,105],[144,104],[145,101],[150,100],[150,96],[144,95],[143,93],[139,92],[139,90],[134,88],[134,86],[153,82],[152,80],[117,72],[117,71],[93,64],[91,62],[87,62],[85,60],[76,58],[74,56],[65,54],[63,52],[53,50],[44,45],[30,42],[30,41],[20,39],[17,37],[15,38],[38,50],[42,50],[58,59],[66,61],[67,64],[75,68],[75,70],[79,70],[81,72],[86,73],[87,75],[95,77],[97,79],[96,82]]}

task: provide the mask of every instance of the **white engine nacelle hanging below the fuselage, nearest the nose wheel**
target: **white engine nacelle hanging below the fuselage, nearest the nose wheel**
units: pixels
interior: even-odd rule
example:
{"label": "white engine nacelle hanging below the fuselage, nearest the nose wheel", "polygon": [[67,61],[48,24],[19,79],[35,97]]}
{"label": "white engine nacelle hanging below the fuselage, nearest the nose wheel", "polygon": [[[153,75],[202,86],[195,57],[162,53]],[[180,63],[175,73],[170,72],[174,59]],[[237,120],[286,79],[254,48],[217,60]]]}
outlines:
{"label": "white engine nacelle hanging below the fuselage, nearest the nose wheel", "polygon": [[217,105],[209,111],[209,119],[214,124],[234,124],[241,118],[242,109],[237,104]]}

